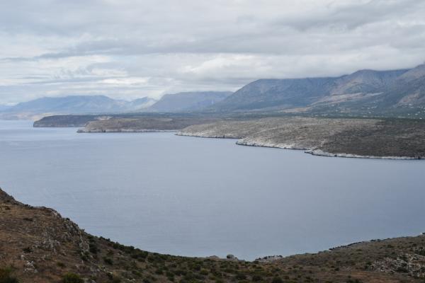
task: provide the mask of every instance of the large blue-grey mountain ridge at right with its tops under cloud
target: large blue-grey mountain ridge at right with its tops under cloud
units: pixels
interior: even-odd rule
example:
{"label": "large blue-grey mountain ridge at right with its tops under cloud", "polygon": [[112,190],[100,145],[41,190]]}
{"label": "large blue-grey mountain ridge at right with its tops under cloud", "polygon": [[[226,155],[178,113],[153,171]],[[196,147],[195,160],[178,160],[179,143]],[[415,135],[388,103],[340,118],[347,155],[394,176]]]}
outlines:
{"label": "large blue-grey mountain ridge at right with its tops under cloud", "polygon": [[[425,64],[413,69],[364,69],[338,77],[259,79],[209,108],[214,112],[288,110],[399,112],[425,109]],[[425,112],[424,112],[425,113]]]}

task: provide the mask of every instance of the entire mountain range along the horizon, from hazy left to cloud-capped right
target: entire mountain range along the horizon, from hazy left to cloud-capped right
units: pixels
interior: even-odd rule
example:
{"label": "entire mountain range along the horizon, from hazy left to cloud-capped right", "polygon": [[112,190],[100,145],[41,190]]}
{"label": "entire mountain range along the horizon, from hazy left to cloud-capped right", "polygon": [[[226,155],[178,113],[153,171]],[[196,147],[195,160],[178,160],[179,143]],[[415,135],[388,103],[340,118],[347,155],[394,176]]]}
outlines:
{"label": "entire mountain range along the horizon, from hazy left to cloud-capped right", "polygon": [[425,64],[413,69],[360,70],[337,77],[259,79],[238,91],[166,94],[159,100],[106,96],[39,98],[0,106],[0,118],[125,112],[306,112],[323,115],[425,117]]}

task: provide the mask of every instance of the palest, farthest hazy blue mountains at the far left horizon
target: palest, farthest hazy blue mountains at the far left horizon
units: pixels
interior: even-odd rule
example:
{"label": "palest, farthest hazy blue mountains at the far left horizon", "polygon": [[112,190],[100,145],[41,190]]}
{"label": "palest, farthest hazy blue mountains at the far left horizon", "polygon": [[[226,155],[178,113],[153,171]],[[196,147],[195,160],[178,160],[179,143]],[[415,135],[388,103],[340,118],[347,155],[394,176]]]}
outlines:
{"label": "palest, farthest hazy blue mountains at the far left horizon", "polygon": [[25,119],[57,114],[96,114],[140,111],[154,103],[152,98],[132,101],[115,100],[107,96],[65,96],[38,98],[0,110],[0,117]]}

